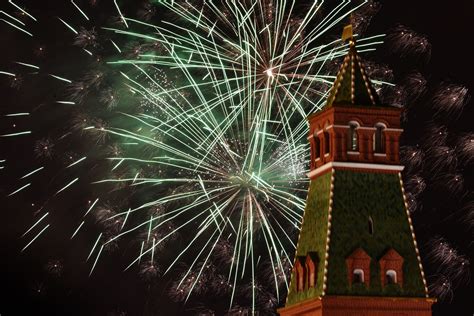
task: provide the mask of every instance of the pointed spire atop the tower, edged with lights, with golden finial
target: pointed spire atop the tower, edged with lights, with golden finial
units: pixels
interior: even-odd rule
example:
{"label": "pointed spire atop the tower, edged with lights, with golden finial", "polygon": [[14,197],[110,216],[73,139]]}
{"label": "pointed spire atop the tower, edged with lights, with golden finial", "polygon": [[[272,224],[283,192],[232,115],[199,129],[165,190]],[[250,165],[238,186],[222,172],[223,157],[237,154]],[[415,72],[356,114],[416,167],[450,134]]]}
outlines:
{"label": "pointed spire atop the tower, edged with lights, with golden finial", "polygon": [[333,105],[380,106],[377,92],[357,54],[352,25],[344,28],[342,39],[349,40],[349,51],[344,57],[325,107]]}

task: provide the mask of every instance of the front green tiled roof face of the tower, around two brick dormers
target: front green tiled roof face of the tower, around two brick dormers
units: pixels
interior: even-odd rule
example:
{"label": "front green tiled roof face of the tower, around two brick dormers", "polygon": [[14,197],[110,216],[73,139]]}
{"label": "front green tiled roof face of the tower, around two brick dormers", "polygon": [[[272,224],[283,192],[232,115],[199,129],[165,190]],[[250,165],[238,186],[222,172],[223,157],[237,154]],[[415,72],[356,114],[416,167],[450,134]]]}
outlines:
{"label": "front green tiled roof face of the tower, around two brick dormers", "polygon": [[[397,174],[336,171],[331,214],[326,294],[425,296]],[[372,235],[368,229],[369,216],[373,220]],[[357,248],[364,249],[372,258],[368,288],[351,287],[347,281],[346,258]],[[381,285],[378,261],[390,248],[404,259],[401,288]]]}

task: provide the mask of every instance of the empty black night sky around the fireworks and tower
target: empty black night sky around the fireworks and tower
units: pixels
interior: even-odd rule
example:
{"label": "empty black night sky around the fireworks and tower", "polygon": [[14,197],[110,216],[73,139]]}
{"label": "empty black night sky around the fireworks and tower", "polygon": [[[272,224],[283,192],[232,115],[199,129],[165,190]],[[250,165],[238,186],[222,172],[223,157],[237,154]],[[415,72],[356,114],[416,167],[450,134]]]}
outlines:
{"label": "empty black night sky around the fireworks and tower", "polygon": [[[0,10],[8,4],[2,3]],[[39,18],[58,15],[61,12],[61,1],[21,1],[27,8]],[[106,0],[104,0],[106,2]],[[112,3],[112,0],[110,0]],[[405,25],[412,30],[425,35],[432,44],[431,60],[423,65],[420,63],[422,73],[431,85],[436,86],[441,82],[454,82],[466,86],[474,91],[474,61],[472,57],[472,21],[474,21],[474,2],[458,0],[452,2],[428,1],[428,0],[387,0],[380,1],[382,8],[374,17],[368,30],[369,34],[386,33],[398,24]],[[46,4],[47,3],[47,4]],[[53,5],[54,3],[54,5]],[[79,3],[79,1],[78,1]],[[110,12],[100,12],[98,15],[107,16],[115,14],[114,8],[110,6]],[[48,51],[61,51],[57,58],[64,61],[67,58],[69,48],[67,45],[55,42],[59,32],[58,23],[54,21],[47,30],[43,30],[44,38],[47,38],[46,47]],[[49,34],[49,37],[48,37]],[[6,24],[0,24],[0,69],[6,68],[12,60],[22,60],[22,56],[28,56],[23,44],[18,41],[18,34]],[[54,46],[54,47],[53,47]],[[386,48],[380,49],[373,59],[382,61],[391,66],[395,78],[402,78],[406,72],[413,68],[412,64],[400,62],[393,55],[388,54]],[[73,60],[71,61],[73,62]],[[0,78],[0,91],[2,95],[0,114],[31,107],[36,104],[36,98],[42,97],[43,102],[55,99],[56,95],[41,95],[41,86],[35,87],[25,84],[20,91],[21,98],[17,98],[17,92],[8,85],[4,78]],[[59,85],[58,85],[59,86]],[[54,90],[54,89],[52,89]],[[52,91],[51,90],[51,91]],[[57,89],[59,91],[59,88]],[[414,119],[424,124],[427,122],[424,109],[415,111],[409,123],[410,130],[404,136],[406,143],[412,143],[419,137]],[[429,114],[429,113],[428,113]],[[463,116],[457,121],[453,130],[459,132],[472,132],[472,118],[474,118],[472,101],[466,105]],[[57,118],[51,118],[51,121]],[[418,122],[418,121],[417,121]],[[0,121],[4,124],[4,121]],[[2,128],[3,130],[3,128]],[[0,154],[16,157],[18,166],[26,164],[31,157],[25,149],[27,146],[17,146],[18,139],[0,140]],[[33,146],[33,144],[29,144]],[[309,154],[309,153],[308,153]],[[0,157],[1,158],[1,157]],[[155,284],[149,285],[137,277],[136,271],[123,272],[123,265],[115,264],[123,262],[124,257],[130,256],[129,249],[108,255],[97,271],[91,277],[90,266],[84,262],[90,251],[90,240],[79,236],[74,241],[68,238],[56,238],[61,234],[69,234],[70,228],[77,224],[77,216],[72,215],[76,204],[84,201],[82,196],[73,194],[65,196],[67,203],[57,205],[61,208],[61,215],[53,219],[52,226],[55,233],[49,232],[42,236],[32,247],[21,253],[25,240],[21,235],[32,223],[30,201],[20,201],[5,197],[12,188],[7,183],[12,177],[8,170],[0,170],[0,285],[2,295],[0,296],[0,315],[192,315],[193,311],[180,303],[172,302],[166,293],[169,280],[164,278]],[[472,166],[463,170],[467,188],[472,189]],[[45,179],[46,183],[54,179]],[[85,191],[89,190],[84,188]],[[44,200],[41,196],[42,190],[38,190],[36,198]],[[431,191],[424,196],[425,210],[440,202],[435,198],[436,191]],[[470,192],[472,198],[472,190]],[[432,201],[432,203],[430,203]],[[450,198],[444,200],[446,204],[457,204]],[[442,207],[449,207],[443,205]],[[460,229],[455,220],[444,224],[444,227],[430,227],[431,221],[426,219],[426,213],[415,216],[415,228],[420,238],[429,239],[434,231],[443,231],[451,240],[458,241],[463,253],[473,259],[473,224],[471,229]],[[93,229],[93,228],[90,228]],[[423,253],[423,251],[422,251]],[[54,260],[60,260],[63,271],[60,277],[54,273],[48,273],[45,266],[54,264]],[[472,266],[472,265],[471,265]],[[471,268],[472,270],[472,268]],[[434,315],[472,315],[474,312],[474,282],[463,285],[456,289],[452,302],[445,302],[434,307]],[[210,301],[213,298],[209,298]],[[196,303],[196,302],[193,302]],[[205,302],[203,302],[205,304]],[[126,314],[120,314],[126,313]]]}

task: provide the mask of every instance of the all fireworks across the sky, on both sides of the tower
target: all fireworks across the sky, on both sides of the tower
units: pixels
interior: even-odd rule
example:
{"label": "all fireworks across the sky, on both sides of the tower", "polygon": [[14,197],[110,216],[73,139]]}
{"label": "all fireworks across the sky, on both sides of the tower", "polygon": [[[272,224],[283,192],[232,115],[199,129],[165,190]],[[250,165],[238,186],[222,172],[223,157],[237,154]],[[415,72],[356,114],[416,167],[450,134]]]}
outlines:
{"label": "all fireworks across the sky, on both sides of the tower", "polygon": [[[15,89],[29,80],[62,87],[31,109],[31,128],[0,133],[38,136],[32,147],[44,164],[21,170],[10,196],[41,186],[39,175],[58,166],[52,162],[63,167],[48,192],[41,188],[51,198],[39,206],[24,250],[51,230],[52,201],[86,187],[88,203],[78,200],[79,221],[67,238],[90,237],[96,232],[87,224],[95,224],[91,273],[104,254],[125,245],[136,253],[125,267],[148,284],[172,279],[167,292],[174,301],[216,295],[227,299],[229,315],[273,310],[288,287],[308,187],[306,116],[324,104],[331,65],[347,51],[331,32],[339,35],[351,13],[355,29],[364,31],[379,6],[344,1],[323,15],[320,2],[149,1],[132,10],[133,18],[114,1],[116,16],[95,23],[100,2],[68,5],[72,14],[54,18],[74,49],[66,58],[38,44],[42,21],[28,9],[13,5],[21,18],[6,23],[35,42],[31,61],[0,75]],[[403,27],[389,40],[393,53],[407,58],[427,58],[431,50],[426,38]],[[358,38],[362,53],[381,42]],[[44,62],[50,56],[57,61]],[[369,63],[367,70],[379,89],[394,77],[385,65]],[[428,90],[413,72],[381,92],[403,106],[423,102]],[[451,84],[431,96],[434,120],[459,118],[469,99],[464,87]],[[21,113],[10,114],[22,123]],[[51,134],[39,136],[44,126]],[[433,182],[464,196],[456,167],[472,162],[472,135],[453,144],[448,128],[433,122],[423,142],[402,149],[415,214]],[[438,274],[433,293],[448,297],[459,277]],[[201,314],[219,312],[203,307]]]}

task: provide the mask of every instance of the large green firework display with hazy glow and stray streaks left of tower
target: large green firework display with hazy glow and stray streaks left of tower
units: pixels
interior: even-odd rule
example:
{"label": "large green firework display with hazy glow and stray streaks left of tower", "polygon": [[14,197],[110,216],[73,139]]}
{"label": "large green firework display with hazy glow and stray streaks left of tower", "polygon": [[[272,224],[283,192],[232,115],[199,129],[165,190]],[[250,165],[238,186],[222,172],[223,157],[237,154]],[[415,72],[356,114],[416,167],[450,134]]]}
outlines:
{"label": "large green firework display with hazy glow and stray streaks left of tower", "polygon": [[[72,4],[77,19],[90,20]],[[321,5],[165,1],[142,6],[141,20],[117,5],[120,22],[109,28],[57,21],[87,67],[71,75],[77,80],[47,76],[65,85],[56,105],[81,107],[68,110],[57,142],[41,138],[35,152],[50,159],[66,140],[87,142],[83,155],[66,159],[67,177],[54,196],[98,170],[90,177],[100,196],[72,234],[88,220],[101,230],[88,256],[91,273],[102,254],[131,238],[138,255],[128,268],[138,267],[145,280],[187,263],[170,289],[176,301],[218,288],[230,297],[230,314],[280,302],[308,185],[306,116],[321,108],[334,80],[327,64],[347,52],[339,40],[321,43],[360,7],[342,2],[322,16]],[[170,18],[151,24],[158,9]],[[380,42],[359,39],[361,52]],[[113,199],[120,202],[102,204]],[[46,209],[27,231],[39,231],[31,242],[49,227]],[[180,247],[162,262],[171,242]],[[214,261],[225,264],[217,269]],[[258,280],[261,270],[270,289]],[[242,293],[248,308],[236,307]]]}

